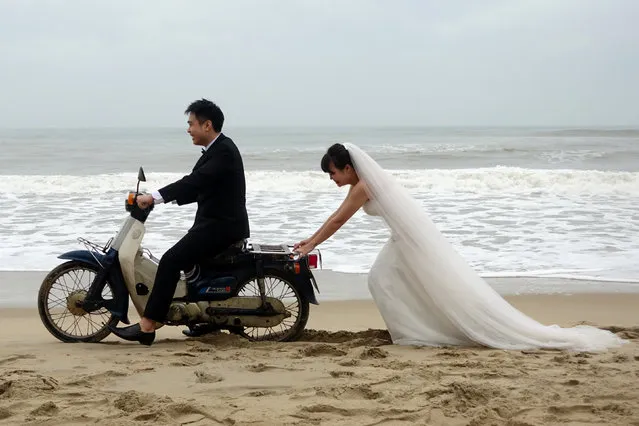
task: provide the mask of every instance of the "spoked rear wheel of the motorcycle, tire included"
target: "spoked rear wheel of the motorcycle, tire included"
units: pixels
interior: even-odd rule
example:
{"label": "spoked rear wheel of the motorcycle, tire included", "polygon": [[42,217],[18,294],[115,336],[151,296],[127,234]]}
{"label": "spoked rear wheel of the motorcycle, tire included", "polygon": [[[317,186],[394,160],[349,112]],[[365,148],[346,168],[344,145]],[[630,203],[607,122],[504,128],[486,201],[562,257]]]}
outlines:
{"label": "spoked rear wheel of the motorcycle, tire included", "polygon": [[[274,327],[234,327],[231,331],[252,341],[288,342],[299,338],[308,321],[309,305],[291,282],[281,271],[266,271],[264,276],[266,296],[279,299],[290,316]],[[257,278],[242,284],[238,292],[238,296],[259,295]]]}

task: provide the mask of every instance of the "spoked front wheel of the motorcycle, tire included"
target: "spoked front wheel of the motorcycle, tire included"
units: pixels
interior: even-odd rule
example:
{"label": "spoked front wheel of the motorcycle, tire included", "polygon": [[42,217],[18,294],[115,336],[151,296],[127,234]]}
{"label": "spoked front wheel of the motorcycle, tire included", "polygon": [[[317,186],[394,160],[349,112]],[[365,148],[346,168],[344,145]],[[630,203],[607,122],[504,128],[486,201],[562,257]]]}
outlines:
{"label": "spoked front wheel of the motorcycle, tire included", "polygon": [[[118,319],[107,309],[94,312],[82,309],[89,286],[98,268],[84,262],[70,261],[53,269],[42,281],[38,293],[38,312],[44,326],[63,342],[99,342],[111,333],[108,325]],[[110,284],[102,291],[112,299]]]}

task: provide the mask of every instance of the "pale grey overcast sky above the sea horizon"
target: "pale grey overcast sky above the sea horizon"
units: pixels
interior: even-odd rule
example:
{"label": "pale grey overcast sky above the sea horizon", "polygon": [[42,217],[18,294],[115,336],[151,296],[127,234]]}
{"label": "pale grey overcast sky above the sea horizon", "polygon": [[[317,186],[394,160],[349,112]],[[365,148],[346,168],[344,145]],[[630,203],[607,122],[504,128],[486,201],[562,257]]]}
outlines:
{"label": "pale grey overcast sky above the sea horizon", "polygon": [[638,0],[0,0],[0,127],[639,125]]}

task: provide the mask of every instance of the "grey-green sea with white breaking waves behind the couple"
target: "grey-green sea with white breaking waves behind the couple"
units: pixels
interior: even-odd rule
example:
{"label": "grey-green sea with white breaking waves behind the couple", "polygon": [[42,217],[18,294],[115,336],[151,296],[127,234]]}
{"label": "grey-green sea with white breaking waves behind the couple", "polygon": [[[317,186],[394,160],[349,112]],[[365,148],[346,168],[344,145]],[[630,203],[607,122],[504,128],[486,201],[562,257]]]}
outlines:
{"label": "grey-green sea with white breaking waves behind the couple", "polygon": [[[636,283],[639,291],[637,128],[224,133],[244,159],[253,242],[293,244],[337,209],[347,189],[320,159],[331,144],[350,142],[409,190],[480,275],[563,278],[583,282],[584,292]],[[140,189],[151,191],[188,174],[200,155],[183,128],[1,129],[0,271],[50,270],[61,253],[83,248],[78,237],[105,244],[126,217],[139,167],[147,178]],[[160,257],[194,213],[194,205],[157,206],[143,245]],[[322,267],[366,273],[388,236],[381,218],[357,212],[319,247]]]}

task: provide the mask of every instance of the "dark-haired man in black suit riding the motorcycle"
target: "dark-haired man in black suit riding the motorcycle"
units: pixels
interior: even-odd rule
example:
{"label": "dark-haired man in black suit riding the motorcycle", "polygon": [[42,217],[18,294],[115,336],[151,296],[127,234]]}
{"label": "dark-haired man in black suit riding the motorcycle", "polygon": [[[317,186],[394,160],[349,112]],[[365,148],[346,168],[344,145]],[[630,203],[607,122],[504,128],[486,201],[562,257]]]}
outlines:
{"label": "dark-haired man in black suit riding the motorcycle", "polygon": [[[203,147],[202,156],[191,174],[151,195],[140,195],[137,200],[141,208],[171,201],[178,205],[197,202],[195,222],[162,256],[139,324],[110,327],[115,335],[146,345],[155,339],[156,323],[166,320],[180,271],[190,271],[202,258],[219,254],[250,236],[244,165],[233,141],[222,133],[222,110],[213,102],[201,99],[189,105],[185,114],[189,114],[188,133],[194,145]],[[194,331],[185,334],[191,335]]]}

